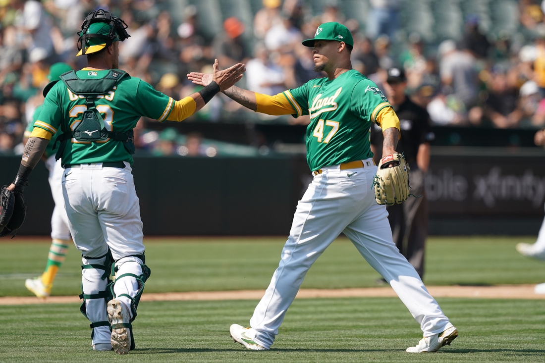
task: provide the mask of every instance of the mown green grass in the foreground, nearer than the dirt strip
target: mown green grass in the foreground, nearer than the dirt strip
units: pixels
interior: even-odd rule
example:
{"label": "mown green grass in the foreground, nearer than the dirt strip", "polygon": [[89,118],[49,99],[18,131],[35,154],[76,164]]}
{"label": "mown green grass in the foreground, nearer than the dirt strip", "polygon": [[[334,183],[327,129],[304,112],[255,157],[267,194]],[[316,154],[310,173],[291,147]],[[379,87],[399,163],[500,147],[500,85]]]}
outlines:
{"label": "mown green grass in the foreground, nearer than the dirt strip", "polygon": [[409,354],[421,331],[394,298],[295,300],[268,352],[247,351],[229,325],[247,323],[256,301],[142,302],[136,350],[90,350],[77,305],[0,307],[0,361],[90,362],[542,362],[543,301],[440,299],[460,336],[434,354]]}

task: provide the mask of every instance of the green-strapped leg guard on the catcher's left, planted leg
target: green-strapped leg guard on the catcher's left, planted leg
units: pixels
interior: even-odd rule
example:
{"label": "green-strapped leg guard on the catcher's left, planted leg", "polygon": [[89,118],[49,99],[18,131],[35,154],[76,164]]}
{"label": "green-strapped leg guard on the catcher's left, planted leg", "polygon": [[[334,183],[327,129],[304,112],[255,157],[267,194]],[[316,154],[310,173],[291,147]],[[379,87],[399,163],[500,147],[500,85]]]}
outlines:
{"label": "green-strapped leg guard on the catcher's left, planted leg", "polygon": [[110,284],[111,264],[110,251],[99,257],[82,256],[81,288],[83,299],[82,314],[91,322],[91,339],[93,344],[110,343],[111,328],[108,322],[106,304],[112,299],[108,285]]}

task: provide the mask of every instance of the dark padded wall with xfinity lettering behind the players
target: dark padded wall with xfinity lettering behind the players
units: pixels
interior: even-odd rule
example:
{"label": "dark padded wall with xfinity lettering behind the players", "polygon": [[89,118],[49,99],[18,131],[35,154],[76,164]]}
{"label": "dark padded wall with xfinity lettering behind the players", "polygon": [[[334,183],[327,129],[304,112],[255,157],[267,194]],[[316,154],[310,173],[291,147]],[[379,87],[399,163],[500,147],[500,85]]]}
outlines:
{"label": "dark padded wall with xfinity lettering behind the players", "polygon": [[[426,176],[431,234],[537,234],[545,203],[541,149],[433,148]],[[19,156],[0,156],[8,184]],[[304,156],[135,158],[147,235],[287,235],[311,181]],[[49,234],[53,201],[44,164],[25,190],[20,234]]]}

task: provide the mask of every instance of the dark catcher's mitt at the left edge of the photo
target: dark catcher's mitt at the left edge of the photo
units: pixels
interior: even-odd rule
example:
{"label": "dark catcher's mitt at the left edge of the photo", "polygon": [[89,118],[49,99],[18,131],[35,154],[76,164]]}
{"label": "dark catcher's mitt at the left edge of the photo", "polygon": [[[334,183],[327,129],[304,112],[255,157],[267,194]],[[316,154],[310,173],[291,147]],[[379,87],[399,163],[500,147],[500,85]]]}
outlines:
{"label": "dark catcher's mitt at the left edge of the photo", "polygon": [[0,193],[0,237],[15,234],[25,221],[27,207],[21,191],[10,191],[4,185]]}

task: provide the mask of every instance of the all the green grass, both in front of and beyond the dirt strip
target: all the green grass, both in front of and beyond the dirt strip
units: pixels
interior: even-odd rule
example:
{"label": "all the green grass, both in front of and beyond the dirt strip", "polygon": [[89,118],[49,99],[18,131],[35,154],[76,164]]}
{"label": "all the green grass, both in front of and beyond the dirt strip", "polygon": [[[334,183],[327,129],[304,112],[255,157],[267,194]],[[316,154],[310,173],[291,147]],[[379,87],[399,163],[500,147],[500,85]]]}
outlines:
{"label": "all the green grass, both in front of and beyond the dirt strip", "polygon": [[[514,250],[534,238],[431,238],[427,285],[496,285],[545,281],[545,263]],[[276,268],[278,238],[147,240],[152,277],[146,292],[264,289]],[[49,244],[17,237],[0,244],[0,295],[30,295],[27,277],[45,266]],[[244,267],[242,270],[241,267]],[[53,293],[80,293],[80,256],[71,249]],[[302,287],[376,286],[374,272],[346,239],[335,241]],[[545,301],[438,299],[459,330],[439,353],[404,352],[421,337],[396,298],[298,299],[268,352],[251,352],[228,336],[247,324],[255,300],[142,302],[137,349],[127,356],[92,352],[88,321],[77,304],[0,306],[0,361],[490,362],[545,356]]]}

